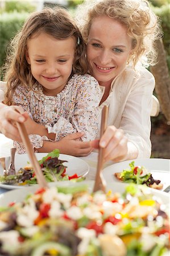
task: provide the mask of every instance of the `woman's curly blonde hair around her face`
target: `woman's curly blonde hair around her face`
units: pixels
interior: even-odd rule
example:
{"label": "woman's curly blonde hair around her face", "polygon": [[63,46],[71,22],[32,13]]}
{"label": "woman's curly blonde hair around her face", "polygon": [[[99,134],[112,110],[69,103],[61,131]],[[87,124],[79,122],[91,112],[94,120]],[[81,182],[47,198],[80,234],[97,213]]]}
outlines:
{"label": "woman's curly blonde hair around her face", "polygon": [[155,40],[161,38],[159,18],[151,10],[147,0],[86,0],[78,6],[76,20],[82,37],[88,42],[93,19],[108,16],[127,28],[132,38],[132,51],[128,63],[135,67],[140,61],[144,67],[154,65],[157,51]]}

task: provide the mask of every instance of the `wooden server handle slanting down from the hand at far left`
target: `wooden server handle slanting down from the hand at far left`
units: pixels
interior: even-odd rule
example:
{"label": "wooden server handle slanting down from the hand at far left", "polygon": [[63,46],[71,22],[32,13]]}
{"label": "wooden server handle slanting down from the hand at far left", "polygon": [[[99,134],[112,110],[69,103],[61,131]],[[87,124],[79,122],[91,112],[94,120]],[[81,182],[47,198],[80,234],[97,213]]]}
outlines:
{"label": "wooden server handle slanting down from the hand at far left", "polygon": [[24,123],[16,122],[16,125],[18,127],[20,137],[22,138],[22,142],[23,142],[24,146],[26,147],[26,151],[27,151],[28,156],[30,158],[30,162],[32,164],[32,167],[34,168],[34,171],[35,171],[35,174],[36,174],[36,179],[38,180],[38,183],[39,183],[40,187],[48,188],[47,181],[44,178],[42,170],[39,166],[39,162],[36,159],[36,156],[34,154],[34,150],[32,149],[30,139],[28,138],[28,134],[27,134],[27,131],[26,131],[26,127],[24,126]]}

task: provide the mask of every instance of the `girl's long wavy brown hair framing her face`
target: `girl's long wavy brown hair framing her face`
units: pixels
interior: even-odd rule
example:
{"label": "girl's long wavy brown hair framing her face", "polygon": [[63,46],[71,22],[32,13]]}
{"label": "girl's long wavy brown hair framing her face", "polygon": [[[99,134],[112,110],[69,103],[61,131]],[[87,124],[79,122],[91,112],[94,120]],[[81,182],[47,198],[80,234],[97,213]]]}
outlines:
{"label": "girl's long wavy brown hair framing her face", "polygon": [[[78,29],[73,18],[69,13],[60,8],[46,8],[42,11],[32,13],[22,30],[16,34],[9,48],[9,55],[4,66],[5,81],[7,88],[5,93],[5,104],[12,104],[12,97],[16,87],[19,84],[32,89],[37,83],[32,76],[30,65],[26,60],[27,42],[35,33],[45,32],[53,36],[57,40],[64,40],[73,37],[76,40],[72,74],[84,75],[88,72],[86,63],[86,46],[82,39],[80,30]],[[44,38],[45,40],[45,38]]]}

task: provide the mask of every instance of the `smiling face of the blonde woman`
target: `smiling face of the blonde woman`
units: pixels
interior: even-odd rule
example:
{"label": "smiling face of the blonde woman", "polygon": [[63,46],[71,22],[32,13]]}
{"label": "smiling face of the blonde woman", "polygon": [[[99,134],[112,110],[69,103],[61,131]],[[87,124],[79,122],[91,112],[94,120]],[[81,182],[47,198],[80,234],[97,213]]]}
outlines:
{"label": "smiling face of the blonde woman", "polygon": [[132,39],[126,27],[107,16],[94,18],[89,31],[87,58],[92,75],[102,86],[110,86],[126,67]]}

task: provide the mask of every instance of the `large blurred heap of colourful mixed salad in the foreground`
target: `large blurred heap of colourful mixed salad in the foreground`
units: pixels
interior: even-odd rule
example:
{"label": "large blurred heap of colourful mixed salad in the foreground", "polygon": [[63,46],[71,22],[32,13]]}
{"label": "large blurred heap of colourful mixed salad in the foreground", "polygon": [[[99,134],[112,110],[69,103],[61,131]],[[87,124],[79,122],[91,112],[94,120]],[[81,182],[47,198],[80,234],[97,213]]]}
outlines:
{"label": "large blurred heap of colourful mixed salad in the foreground", "polygon": [[40,188],[0,210],[6,256],[160,256],[168,251],[165,205],[143,185],[121,195],[86,184]]}

